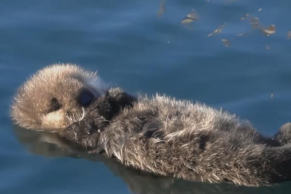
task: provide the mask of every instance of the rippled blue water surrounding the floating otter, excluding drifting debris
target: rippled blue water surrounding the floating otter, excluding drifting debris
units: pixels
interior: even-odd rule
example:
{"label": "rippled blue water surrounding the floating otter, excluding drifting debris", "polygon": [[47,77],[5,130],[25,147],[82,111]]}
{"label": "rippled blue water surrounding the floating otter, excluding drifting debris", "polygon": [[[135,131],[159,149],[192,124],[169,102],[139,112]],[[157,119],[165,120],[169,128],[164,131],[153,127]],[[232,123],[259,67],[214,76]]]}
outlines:
{"label": "rippled blue water surrounding the floating otter, excluding drifting debris", "polygon": [[[167,0],[158,17],[160,4],[0,1],[1,194],[290,192],[290,182],[248,188],[155,177],[12,125],[9,106],[17,88],[54,63],[98,70],[104,81],[130,93],[205,102],[250,120],[265,135],[291,121],[290,0]],[[192,9],[199,19],[182,24]],[[246,13],[264,27],[275,24],[275,34],[253,29],[249,19],[241,19]],[[221,33],[207,36],[224,22]]]}

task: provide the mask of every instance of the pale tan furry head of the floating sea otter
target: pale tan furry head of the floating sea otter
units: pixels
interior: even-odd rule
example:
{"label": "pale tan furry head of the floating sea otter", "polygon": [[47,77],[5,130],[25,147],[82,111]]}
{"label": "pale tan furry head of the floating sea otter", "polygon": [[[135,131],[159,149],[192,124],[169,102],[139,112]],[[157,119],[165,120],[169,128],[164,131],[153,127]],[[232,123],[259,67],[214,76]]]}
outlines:
{"label": "pale tan furry head of the floating sea otter", "polygon": [[60,132],[81,120],[86,108],[103,94],[96,73],[77,65],[50,65],[18,89],[11,114],[21,127]]}

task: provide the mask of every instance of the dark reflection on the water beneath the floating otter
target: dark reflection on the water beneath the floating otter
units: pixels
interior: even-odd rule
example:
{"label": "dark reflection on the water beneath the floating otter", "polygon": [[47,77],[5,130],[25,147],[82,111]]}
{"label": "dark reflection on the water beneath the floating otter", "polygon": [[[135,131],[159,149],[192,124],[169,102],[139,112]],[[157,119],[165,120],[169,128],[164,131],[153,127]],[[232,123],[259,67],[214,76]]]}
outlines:
{"label": "dark reflection on the water beneath the floating otter", "polygon": [[[134,194],[272,194],[286,193],[288,182],[280,187],[245,187],[231,184],[210,184],[189,182],[171,177],[159,177],[137,171],[99,155],[90,155],[86,150],[72,144],[60,136],[48,132],[36,132],[15,126],[18,140],[29,148],[33,154],[44,156],[69,156],[85,158],[91,161],[105,163],[115,175],[122,178]],[[277,189],[280,189],[278,191]],[[286,189],[286,192],[284,192]],[[287,192],[288,193],[288,192]]]}

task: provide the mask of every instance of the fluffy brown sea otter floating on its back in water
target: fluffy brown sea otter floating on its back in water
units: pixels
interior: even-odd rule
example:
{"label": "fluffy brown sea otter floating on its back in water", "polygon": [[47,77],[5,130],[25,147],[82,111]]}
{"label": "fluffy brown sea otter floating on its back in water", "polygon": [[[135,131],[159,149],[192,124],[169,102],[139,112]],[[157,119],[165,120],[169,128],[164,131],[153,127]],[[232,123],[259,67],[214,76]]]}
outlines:
{"label": "fluffy brown sea otter floating on its back in water", "polygon": [[248,121],[166,96],[107,89],[77,65],[50,65],[22,85],[16,124],[58,133],[89,153],[191,181],[259,186],[291,180],[291,124],[265,138]]}

